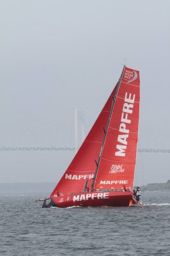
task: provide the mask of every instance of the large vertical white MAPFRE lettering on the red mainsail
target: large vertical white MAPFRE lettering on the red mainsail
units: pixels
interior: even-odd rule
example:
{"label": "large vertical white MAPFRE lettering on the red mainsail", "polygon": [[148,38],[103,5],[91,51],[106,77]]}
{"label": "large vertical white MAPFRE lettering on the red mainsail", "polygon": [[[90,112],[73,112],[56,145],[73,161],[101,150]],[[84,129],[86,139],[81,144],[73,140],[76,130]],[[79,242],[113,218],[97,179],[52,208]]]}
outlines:
{"label": "large vertical white MAPFRE lettering on the red mainsail", "polygon": [[135,94],[125,93],[125,99],[123,104],[123,111],[121,114],[121,124],[119,131],[122,132],[118,134],[118,144],[116,148],[118,151],[115,152],[115,156],[125,156],[127,144],[128,144],[128,134],[129,129],[127,129],[128,124],[131,124],[131,115],[133,113]]}

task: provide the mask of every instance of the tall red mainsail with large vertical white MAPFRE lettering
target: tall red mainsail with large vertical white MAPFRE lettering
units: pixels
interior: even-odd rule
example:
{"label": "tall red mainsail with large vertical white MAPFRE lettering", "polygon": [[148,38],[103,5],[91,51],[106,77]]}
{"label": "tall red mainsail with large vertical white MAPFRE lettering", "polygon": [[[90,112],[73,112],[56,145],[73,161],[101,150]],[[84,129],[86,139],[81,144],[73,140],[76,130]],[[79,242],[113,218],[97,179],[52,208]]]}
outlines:
{"label": "tall red mainsail with large vertical white MAPFRE lettering", "polygon": [[139,71],[125,67],[100,156],[95,189],[133,188],[139,99]]}

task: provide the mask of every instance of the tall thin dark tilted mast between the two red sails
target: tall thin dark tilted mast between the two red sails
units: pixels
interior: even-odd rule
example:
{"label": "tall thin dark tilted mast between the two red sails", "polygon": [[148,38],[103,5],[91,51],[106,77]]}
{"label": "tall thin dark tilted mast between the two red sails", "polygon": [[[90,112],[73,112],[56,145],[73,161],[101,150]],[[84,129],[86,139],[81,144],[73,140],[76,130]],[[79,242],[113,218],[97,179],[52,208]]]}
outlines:
{"label": "tall thin dark tilted mast between the two red sails", "polygon": [[111,111],[110,111],[110,114],[109,114],[109,119],[107,121],[107,126],[106,126],[106,129],[104,129],[104,140],[102,141],[102,147],[100,149],[100,154],[99,154],[99,157],[98,157],[98,161],[95,160],[96,164],[97,164],[97,168],[96,168],[96,171],[95,171],[95,175],[94,175],[94,178],[93,178],[93,183],[91,185],[91,191],[94,190],[94,186],[95,186],[95,180],[96,180],[96,177],[97,177],[97,173],[98,173],[98,166],[99,166],[99,163],[100,163],[100,159],[101,159],[101,156],[102,156],[102,151],[103,151],[103,148],[104,148],[104,143],[105,143],[105,138],[106,138],[106,135],[107,135],[107,131],[108,131],[108,128],[109,128],[109,124],[110,124],[110,121],[111,121],[111,116],[112,116],[112,111],[113,111],[113,108],[114,108],[114,103],[116,101],[116,97],[118,95],[118,91],[120,89],[120,83],[121,83],[121,78],[123,76],[123,72],[125,70],[125,65],[123,67],[123,70],[121,72],[121,76],[120,76],[120,79],[119,79],[119,83],[118,83],[118,87],[116,89],[116,93],[112,99],[112,106],[111,106]]}

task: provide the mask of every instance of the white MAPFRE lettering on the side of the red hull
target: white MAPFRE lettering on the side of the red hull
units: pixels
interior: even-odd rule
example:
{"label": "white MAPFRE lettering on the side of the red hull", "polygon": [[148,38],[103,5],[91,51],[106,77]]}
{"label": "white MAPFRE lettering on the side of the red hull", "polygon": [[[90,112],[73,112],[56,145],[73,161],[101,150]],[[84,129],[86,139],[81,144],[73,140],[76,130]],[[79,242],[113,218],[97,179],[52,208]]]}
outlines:
{"label": "white MAPFRE lettering on the side of the red hull", "polygon": [[89,200],[89,198],[91,198],[92,200],[94,200],[95,198],[106,199],[106,198],[109,198],[109,192],[91,193],[91,194],[82,194],[82,195],[73,196],[73,202],[82,201],[82,200],[86,201],[86,200]]}

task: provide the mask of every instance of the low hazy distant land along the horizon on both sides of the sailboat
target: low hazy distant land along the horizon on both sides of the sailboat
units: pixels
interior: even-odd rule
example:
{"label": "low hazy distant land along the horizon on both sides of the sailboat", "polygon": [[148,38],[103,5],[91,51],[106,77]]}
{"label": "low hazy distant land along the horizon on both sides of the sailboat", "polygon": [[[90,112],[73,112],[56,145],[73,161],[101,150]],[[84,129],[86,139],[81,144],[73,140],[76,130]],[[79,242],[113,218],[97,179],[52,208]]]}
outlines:
{"label": "low hazy distant land along the horizon on both sides of the sailboat", "polygon": [[[52,182],[15,182],[15,183],[0,183],[0,195],[49,195],[55,188],[56,183]],[[141,186],[142,191],[161,191],[170,190],[170,180],[166,183],[150,183],[146,186]]]}

